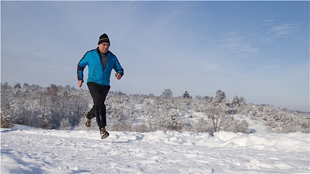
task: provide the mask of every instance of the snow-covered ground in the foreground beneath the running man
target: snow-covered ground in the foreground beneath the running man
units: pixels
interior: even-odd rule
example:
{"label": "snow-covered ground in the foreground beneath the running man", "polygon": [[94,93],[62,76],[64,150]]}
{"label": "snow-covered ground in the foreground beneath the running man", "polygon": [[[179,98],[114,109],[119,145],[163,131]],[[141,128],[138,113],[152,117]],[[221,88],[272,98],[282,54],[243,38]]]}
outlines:
{"label": "snow-covered ground in the foreground beneath the running man", "polygon": [[1,129],[1,174],[310,173],[310,134]]}

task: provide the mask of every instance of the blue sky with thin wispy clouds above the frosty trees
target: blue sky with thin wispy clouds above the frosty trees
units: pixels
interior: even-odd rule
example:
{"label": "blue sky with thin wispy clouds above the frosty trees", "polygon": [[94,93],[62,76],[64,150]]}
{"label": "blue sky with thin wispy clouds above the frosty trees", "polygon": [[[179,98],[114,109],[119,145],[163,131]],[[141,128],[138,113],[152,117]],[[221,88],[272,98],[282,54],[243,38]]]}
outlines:
{"label": "blue sky with thin wispy clouds above the frosty trees", "polygon": [[230,100],[310,110],[309,1],[0,5],[1,83],[77,87],[78,62],[107,33],[124,68],[110,90],[195,97],[220,89]]}

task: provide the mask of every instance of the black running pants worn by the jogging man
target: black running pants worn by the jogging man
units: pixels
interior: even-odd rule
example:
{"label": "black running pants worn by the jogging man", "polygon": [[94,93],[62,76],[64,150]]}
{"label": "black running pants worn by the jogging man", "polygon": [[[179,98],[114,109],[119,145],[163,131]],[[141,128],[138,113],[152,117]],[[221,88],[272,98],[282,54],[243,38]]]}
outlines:
{"label": "black running pants worn by the jogging man", "polygon": [[94,106],[87,113],[87,118],[92,119],[96,117],[96,121],[100,130],[106,126],[106,108],[104,101],[108,91],[110,90],[110,86],[103,86],[93,82],[88,82],[87,86],[94,100]]}

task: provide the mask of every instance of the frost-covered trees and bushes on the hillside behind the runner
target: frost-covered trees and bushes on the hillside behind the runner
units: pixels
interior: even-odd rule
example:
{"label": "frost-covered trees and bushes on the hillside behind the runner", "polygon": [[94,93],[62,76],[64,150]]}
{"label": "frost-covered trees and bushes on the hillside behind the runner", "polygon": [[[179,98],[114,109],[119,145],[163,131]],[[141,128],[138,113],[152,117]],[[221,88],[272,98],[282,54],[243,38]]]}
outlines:
{"label": "frost-covered trees and bushes on the hillside behind the runner", "polygon": [[[16,83],[11,87],[1,83],[1,128],[23,124],[42,129],[97,130],[95,119],[91,127],[84,126],[83,114],[92,105],[88,90],[69,85],[40,87]],[[268,132],[309,133],[309,113],[247,104],[237,95],[230,101],[221,90],[216,91],[215,97],[193,97],[188,91],[174,97],[170,89],[165,89],[160,96],[109,91],[105,105],[107,128],[112,131],[252,133],[245,119],[248,118],[263,122]]]}

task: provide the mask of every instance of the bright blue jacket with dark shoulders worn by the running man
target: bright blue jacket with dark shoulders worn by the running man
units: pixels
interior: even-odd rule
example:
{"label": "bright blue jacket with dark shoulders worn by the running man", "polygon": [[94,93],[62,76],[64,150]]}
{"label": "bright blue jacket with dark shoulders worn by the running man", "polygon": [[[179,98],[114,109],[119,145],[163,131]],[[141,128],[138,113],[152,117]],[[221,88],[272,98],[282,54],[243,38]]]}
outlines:
{"label": "bright blue jacket with dark shoulders worn by the running man", "polygon": [[105,69],[103,68],[103,63],[101,61],[101,56],[98,48],[88,51],[82,57],[78,64],[78,81],[82,80],[84,82],[84,69],[88,65],[88,79],[87,82],[94,82],[99,85],[109,86],[111,71],[114,69],[115,72],[119,73],[121,76],[124,75],[124,70],[120,66],[116,56],[108,51],[107,63]]}

